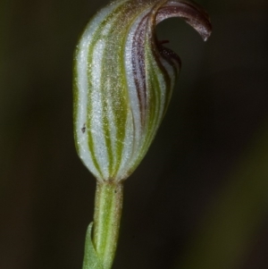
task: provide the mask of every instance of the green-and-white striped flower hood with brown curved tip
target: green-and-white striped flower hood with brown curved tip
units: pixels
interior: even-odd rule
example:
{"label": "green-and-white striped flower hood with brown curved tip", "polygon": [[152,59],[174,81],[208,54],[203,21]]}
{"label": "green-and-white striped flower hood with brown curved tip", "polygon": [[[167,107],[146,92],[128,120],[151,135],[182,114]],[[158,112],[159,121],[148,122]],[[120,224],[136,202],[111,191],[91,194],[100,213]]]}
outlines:
{"label": "green-and-white striped flower hood with brown curved tip", "polygon": [[211,24],[186,0],[118,0],[88,22],[74,55],[74,132],[78,154],[98,181],[122,181],[155,138],[180,71],[180,57],[155,26],[181,17],[204,40]]}

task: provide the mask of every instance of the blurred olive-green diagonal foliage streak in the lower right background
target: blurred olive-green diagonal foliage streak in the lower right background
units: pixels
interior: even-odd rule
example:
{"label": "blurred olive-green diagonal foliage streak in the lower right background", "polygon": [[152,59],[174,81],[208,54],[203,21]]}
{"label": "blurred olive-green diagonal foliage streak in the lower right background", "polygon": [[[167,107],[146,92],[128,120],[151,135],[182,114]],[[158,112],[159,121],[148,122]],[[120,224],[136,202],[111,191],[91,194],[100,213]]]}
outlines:
{"label": "blurred olive-green diagonal foliage streak in the lower right background", "polygon": [[[240,268],[245,263],[268,214],[267,138],[268,120],[256,132],[225,186],[214,193],[178,268]],[[264,253],[267,244],[265,241]],[[251,268],[264,267],[257,261]]]}

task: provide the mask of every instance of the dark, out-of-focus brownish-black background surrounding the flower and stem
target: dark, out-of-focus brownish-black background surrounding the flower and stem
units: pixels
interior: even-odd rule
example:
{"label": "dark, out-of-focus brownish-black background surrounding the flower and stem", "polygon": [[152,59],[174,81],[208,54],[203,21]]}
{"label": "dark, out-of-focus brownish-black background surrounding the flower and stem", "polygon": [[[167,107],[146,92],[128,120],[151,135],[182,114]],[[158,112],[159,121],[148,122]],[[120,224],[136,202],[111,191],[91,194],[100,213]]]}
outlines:
{"label": "dark, out-of-focus brownish-black background surrounding the flower and stem", "polygon": [[[72,137],[72,53],[106,1],[0,2],[0,268],[79,269],[96,182]],[[200,0],[203,42],[158,26],[182,61],[155,142],[125,183],[114,268],[268,264],[268,5]]]}

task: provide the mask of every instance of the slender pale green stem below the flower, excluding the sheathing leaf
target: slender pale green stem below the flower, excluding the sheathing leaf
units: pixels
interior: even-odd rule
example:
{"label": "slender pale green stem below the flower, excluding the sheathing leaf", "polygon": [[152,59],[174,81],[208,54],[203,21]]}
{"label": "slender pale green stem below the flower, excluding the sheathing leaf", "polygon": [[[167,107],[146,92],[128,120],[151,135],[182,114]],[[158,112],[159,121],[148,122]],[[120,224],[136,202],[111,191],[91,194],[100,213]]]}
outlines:
{"label": "slender pale green stem below the flower, excluding the sheathing leaf", "polygon": [[113,265],[121,221],[122,192],[122,183],[96,183],[93,244],[104,269]]}

